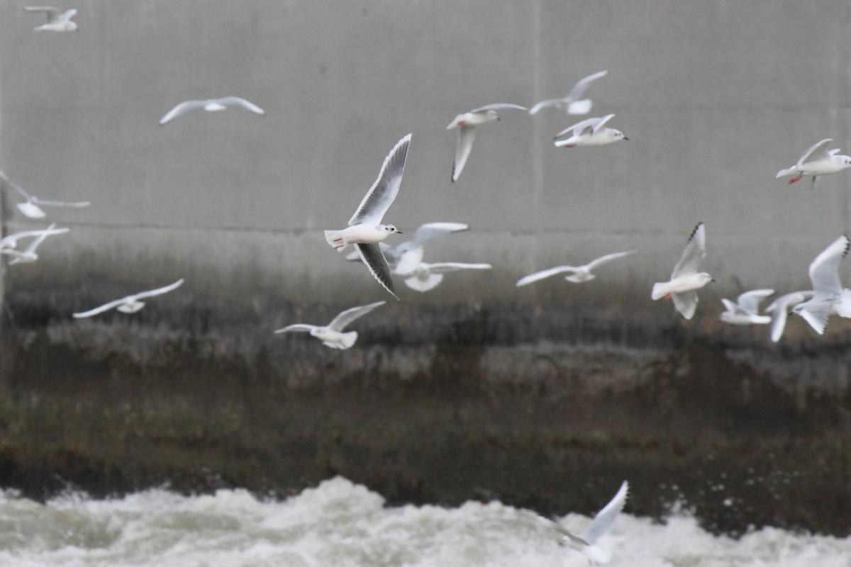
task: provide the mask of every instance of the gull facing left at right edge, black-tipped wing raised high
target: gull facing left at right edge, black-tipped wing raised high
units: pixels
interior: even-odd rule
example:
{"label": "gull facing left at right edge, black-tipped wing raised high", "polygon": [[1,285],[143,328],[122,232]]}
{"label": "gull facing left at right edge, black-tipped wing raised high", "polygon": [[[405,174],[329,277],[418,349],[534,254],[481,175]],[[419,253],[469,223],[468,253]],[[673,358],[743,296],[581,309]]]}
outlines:
{"label": "gull facing left at right edge, black-tipped wing raised high", "polygon": [[849,245],[851,241],[848,236],[840,236],[815,257],[813,263],[809,264],[813,297],[792,308],[820,335],[825,334],[827,318],[831,313],[851,317],[851,290],[843,290],[839,281],[839,263],[848,254]]}

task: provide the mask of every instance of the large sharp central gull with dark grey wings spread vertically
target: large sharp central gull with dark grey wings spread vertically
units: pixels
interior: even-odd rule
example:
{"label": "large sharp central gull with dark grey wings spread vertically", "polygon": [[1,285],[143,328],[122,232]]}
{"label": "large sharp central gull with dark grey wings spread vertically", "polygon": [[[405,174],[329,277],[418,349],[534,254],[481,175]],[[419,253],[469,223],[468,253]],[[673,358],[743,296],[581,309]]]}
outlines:
{"label": "large sharp central gull with dark grey wings spread vertically", "polygon": [[392,224],[381,224],[381,219],[399,192],[410,144],[411,134],[408,134],[390,150],[381,165],[378,179],[349,219],[349,226],[343,230],[325,230],[325,240],[338,252],[342,252],[347,244],[354,244],[375,280],[397,299],[390,267],[378,244],[391,234],[402,234]]}

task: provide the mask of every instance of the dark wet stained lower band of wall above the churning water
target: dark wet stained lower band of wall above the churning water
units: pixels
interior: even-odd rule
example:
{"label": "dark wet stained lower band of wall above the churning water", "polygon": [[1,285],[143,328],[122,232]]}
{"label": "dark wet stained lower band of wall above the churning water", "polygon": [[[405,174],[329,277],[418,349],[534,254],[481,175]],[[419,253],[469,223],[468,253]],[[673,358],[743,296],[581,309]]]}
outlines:
{"label": "dark wet stained lower band of wall above the churning water", "polygon": [[[120,286],[117,286],[119,288]],[[117,290],[116,290],[117,291]],[[389,502],[694,510],[707,529],[847,535],[851,329],[816,337],[643,309],[388,304],[347,351],[276,336],[275,298],[151,302],[71,320],[79,290],[13,290],[0,485],[43,498],[166,484],[289,494],[334,474]],[[119,296],[120,297],[120,296]],[[374,316],[373,316],[374,315]]]}

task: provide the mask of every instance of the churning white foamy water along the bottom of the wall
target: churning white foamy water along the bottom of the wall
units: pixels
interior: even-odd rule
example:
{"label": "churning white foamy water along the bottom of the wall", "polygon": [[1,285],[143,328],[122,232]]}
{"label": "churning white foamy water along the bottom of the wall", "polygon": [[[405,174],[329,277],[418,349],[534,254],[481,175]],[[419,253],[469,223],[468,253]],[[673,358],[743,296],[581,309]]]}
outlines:
{"label": "churning white foamy water along the bottom of the wall", "polygon": [[[586,521],[564,519],[576,529]],[[601,544],[614,550],[613,566],[851,565],[851,537],[765,528],[734,540],[683,514],[654,524],[623,513]],[[3,567],[587,564],[528,510],[499,502],[385,507],[380,495],[339,477],[283,502],[245,490],[180,496],[157,489],[111,500],[74,493],[46,505],[0,493]]]}

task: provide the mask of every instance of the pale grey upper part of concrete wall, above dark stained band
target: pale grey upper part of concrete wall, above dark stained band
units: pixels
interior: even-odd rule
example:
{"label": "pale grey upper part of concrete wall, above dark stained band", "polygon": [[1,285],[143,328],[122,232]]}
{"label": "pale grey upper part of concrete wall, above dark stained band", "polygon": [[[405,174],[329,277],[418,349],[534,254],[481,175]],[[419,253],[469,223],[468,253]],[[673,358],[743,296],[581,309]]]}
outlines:
{"label": "pale grey upper part of concrete wall, above dark stained band", "polygon": [[[848,3],[81,0],[80,31],[65,34],[32,31],[41,18],[24,4],[0,5],[0,164],[37,196],[94,204],[51,212],[71,234],[11,270],[12,287],[183,276],[214,294],[385,298],[322,230],[346,224],[408,132],[386,220],[471,224],[426,261],[495,269],[425,298],[403,289],[406,301],[603,301],[513,282],[639,247],[604,275],[668,316],[649,287],[700,220],[708,297],[808,286],[808,263],[849,229],[851,173],[816,190],[774,179],[819,139],[851,151]],[[577,118],[505,111],[450,183],[458,112],[532,105],[602,69],[591,116],[616,113],[631,141],[559,150],[553,135]],[[266,116],[157,125],[184,99],[227,94]],[[44,223],[18,215],[10,230],[30,224]]]}

